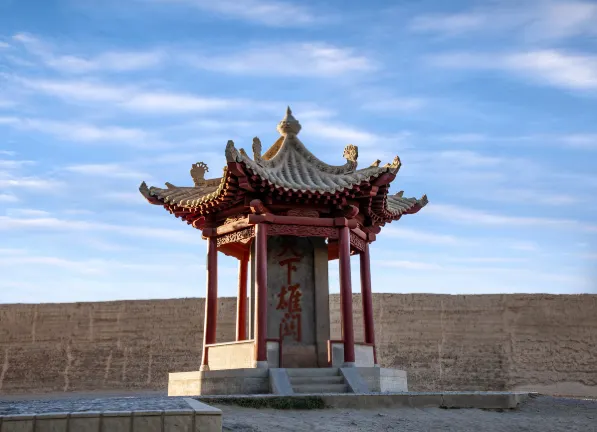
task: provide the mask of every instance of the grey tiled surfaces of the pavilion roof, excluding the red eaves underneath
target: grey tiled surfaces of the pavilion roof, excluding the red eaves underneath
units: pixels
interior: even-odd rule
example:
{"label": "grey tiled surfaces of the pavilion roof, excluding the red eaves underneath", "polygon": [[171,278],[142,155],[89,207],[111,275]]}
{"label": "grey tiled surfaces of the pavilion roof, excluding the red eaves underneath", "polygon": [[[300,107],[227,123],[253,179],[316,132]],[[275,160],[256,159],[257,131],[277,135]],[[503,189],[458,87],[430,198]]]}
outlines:
{"label": "grey tiled surfaces of the pavilion roof, excluding the red eaves underneath", "polygon": [[[254,138],[253,156],[249,157],[243,149],[237,149],[232,141],[228,141],[226,161],[229,165],[239,164],[253,180],[259,178],[275,189],[321,195],[358,190],[358,187],[369,185],[384,174],[393,176],[400,169],[398,157],[384,166],[379,166],[379,161],[376,161],[369,167],[357,169],[358,149],[353,145],[346,146],[344,150],[344,165],[328,165],[311,153],[297,137],[300,129],[299,122],[288,109],[286,116],[278,124],[278,131],[282,136],[269,150],[262,155],[261,142]],[[230,195],[234,195],[230,189],[230,181],[236,181],[231,179],[233,174],[229,169],[224,168],[221,178],[210,180],[204,179],[206,171],[208,168],[202,162],[193,165],[191,175],[195,181],[194,187],[177,187],[166,183],[167,188],[163,189],[147,187],[142,183],[139,190],[154,204],[169,204],[182,209],[196,209],[203,204],[209,203],[212,206],[211,202],[230,200]],[[229,197],[224,198],[227,194]],[[383,192],[380,191],[373,198],[378,203],[373,205],[377,209],[374,212],[381,212],[376,216],[381,220],[415,213],[427,204],[426,196],[416,199],[403,198],[401,192],[393,196],[386,194],[387,188],[384,188]]]}

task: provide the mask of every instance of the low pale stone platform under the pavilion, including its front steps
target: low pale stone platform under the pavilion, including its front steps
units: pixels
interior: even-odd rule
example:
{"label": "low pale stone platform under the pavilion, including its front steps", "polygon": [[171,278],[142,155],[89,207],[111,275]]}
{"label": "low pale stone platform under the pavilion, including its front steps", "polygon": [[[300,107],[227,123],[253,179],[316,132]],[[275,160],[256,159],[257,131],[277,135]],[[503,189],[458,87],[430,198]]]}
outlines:
{"label": "low pale stone platform under the pavilion, including its front steps", "polygon": [[406,372],[380,367],[250,368],[169,374],[168,396],[406,392]]}

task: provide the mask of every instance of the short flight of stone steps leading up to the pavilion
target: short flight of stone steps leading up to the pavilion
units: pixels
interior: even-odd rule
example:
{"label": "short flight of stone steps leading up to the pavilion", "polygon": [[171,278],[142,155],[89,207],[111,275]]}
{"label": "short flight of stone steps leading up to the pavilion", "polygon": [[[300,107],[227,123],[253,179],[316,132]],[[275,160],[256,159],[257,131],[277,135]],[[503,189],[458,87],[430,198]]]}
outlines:
{"label": "short flight of stone steps leading up to the pavilion", "polygon": [[286,369],[294,393],[349,393],[338,368]]}

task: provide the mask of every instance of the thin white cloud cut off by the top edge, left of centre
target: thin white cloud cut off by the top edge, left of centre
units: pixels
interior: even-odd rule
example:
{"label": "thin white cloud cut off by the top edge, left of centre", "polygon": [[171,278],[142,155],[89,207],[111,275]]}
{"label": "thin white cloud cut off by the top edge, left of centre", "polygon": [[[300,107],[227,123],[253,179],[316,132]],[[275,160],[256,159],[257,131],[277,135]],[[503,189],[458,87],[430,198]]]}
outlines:
{"label": "thin white cloud cut off by the top edge, left of centre", "polygon": [[153,0],[170,4],[185,4],[225,17],[272,27],[295,27],[312,24],[317,17],[306,7],[277,0]]}

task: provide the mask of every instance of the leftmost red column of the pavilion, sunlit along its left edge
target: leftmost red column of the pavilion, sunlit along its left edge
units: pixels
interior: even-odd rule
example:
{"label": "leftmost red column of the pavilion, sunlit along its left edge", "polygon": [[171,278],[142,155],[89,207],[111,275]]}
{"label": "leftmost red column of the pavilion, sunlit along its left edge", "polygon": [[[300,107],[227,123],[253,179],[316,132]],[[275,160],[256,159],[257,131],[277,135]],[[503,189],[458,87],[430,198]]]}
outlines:
{"label": "leftmost red column of the pavilion, sunlit along its left edge", "polygon": [[216,237],[207,239],[207,292],[205,295],[205,321],[203,327],[203,359],[201,369],[208,369],[206,345],[216,343],[218,318],[218,247]]}

